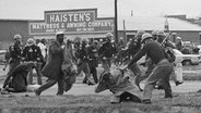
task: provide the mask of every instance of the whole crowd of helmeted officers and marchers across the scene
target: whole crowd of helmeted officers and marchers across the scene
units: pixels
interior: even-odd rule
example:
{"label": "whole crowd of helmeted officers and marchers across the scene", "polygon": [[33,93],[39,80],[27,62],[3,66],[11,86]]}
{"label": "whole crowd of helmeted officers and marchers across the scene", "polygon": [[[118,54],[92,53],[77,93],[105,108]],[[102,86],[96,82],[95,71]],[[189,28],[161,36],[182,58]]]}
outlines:
{"label": "whole crowd of helmeted officers and marchers across the scene", "polygon": [[[85,38],[70,40],[64,39],[63,32],[58,32],[55,40],[50,42],[42,39],[36,43],[34,38],[28,38],[23,47],[21,35],[15,35],[14,43],[10,46],[5,55],[9,73],[1,91],[25,91],[27,85],[34,84],[33,70],[36,70],[37,84],[40,85],[39,88],[35,89],[36,96],[40,96],[44,90],[56,83],[58,83],[57,95],[63,95],[63,91],[68,91],[72,87],[75,77],[81,72],[85,75],[83,84],[95,85],[103,84],[102,80],[109,80],[110,78],[105,77],[106,79],[104,79],[103,76],[104,74],[109,75],[114,63],[117,66],[125,65],[120,68],[121,71],[129,68],[135,75],[134,83],[144,92],[143,103],[151,103],[152,90],[158,86],[165,90],[165,98],[173,98],[169,77],[175,75],[174,63],[167,59],[164,51],[165,48],[169,47],[182,52],[185,47],[180,37],[177,38],[176,43],[168,40],[167,37],[169,37],[168,34],[163,30],[153,30],[152,34],[138,30],[135,37],[129,39],[127,43],[123,38],[115,43],[111,33],[106,34],[105,40],[87,40]],[[194,52],[198,51],[194,50]],[[143,55],[146,58],[144,65],[147,66],[145,74],[137,64]],[[98,78],[96,67],[98,67],[99,62],[104,73]],[[46,76],[48,79],[43,83],[42,76]],[[142,89],[140,81],[145,78],[147,80]],[[121,83],[121,85],[123,84],[123,88],[126,88],[129,80],[123,81],[126,83]],[[175,79],[175,84],[182,83]],[[131,84],[129,85],[131,86]],[[116,87],[119,88],[118,85],[113,88]],[[97,92],[98,90],[96,89]],[[128,96],[128,93],[126,95]]]}

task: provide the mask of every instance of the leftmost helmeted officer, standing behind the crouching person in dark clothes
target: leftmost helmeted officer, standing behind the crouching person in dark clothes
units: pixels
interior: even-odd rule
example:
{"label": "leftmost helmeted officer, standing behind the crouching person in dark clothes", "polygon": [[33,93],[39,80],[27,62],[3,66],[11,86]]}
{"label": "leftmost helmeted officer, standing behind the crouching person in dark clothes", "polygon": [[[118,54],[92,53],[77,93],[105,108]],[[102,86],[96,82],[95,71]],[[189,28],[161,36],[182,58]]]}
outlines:
{"label": "leftmost helmeted officer, standing behind the crouching person in dark clothes", "polygon": [[9,72],[12,71],[21,63],[22,55],[22,36],[14,35],[14,43],[9,47],[10,60],[9,60]]}

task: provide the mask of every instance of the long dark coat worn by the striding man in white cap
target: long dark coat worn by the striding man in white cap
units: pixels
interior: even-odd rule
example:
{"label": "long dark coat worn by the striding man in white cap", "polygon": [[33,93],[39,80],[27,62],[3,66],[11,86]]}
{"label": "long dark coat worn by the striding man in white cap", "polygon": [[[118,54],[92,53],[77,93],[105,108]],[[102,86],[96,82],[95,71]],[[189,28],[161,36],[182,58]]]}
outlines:
{"label": "long dark coat worn by the striding man in white cap", "polygon": [[61,64],[63,61],[62,48],[61,45],[55,40],[50,42],[48,50],[49,56],[46,65],[42,70],[42,73],[49,79],[57,80],[58,78],[61,78],[63,75],[61,71]]}

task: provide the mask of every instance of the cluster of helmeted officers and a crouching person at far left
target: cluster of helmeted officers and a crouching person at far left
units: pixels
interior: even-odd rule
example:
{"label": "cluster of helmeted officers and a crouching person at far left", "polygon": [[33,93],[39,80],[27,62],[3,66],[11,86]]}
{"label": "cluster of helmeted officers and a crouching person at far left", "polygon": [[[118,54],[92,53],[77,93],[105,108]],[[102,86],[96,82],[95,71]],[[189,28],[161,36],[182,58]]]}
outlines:
{"label": "cluster of helmeted officers and a crouching person at far left", "polygon": [[[27,85],[33,85],[33,70],[37,72],[37,84],[42,85],[42,67],[46,63],[47,53],[42,53],[42,46],[37,46],[33,38],[28,38],[26,45],[22,45],[22,36],[15,35],[14,43],[5,53],[5,66],[9,65],[8,77],[3,84],[3,90],[21,92],[26,90]],[[38,45],[46,47],[45,40]],[[47,50],[45,49],[47,52]],[[15,84],[15,85],[13,85]]]}

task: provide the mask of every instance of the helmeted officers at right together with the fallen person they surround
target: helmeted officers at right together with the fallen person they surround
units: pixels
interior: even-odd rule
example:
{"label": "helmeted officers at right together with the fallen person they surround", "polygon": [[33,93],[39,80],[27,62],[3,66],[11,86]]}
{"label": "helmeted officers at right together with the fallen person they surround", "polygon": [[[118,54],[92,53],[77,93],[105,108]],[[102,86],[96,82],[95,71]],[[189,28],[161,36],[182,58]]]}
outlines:
{"label": "helmeted officers at right together with the fallen person they surround", "polygon": [[[120,52],[122,54],[122,55],[120,54],[120,56],[122,56],[123,59],[121,60],[121,62],[123,62],[122,63],[123,66],[120,67],[120,72],[130,70],[135,75],[134,83],[139,87],[139,89],[143,91],[143,98],[141,101],[142,103],[145,104],[151,103],[152,90],[155,88],[161,88],[165,90],[164,98],[173,98],[172,87],[169,84],[170,77],[174,79],[176,86],[182,84],[182,81],[178,81],[176,79],[176,74],[174,70],[175,56],[169,58],[168,56],[169,54],[167,53],[167,50],[168,52],[173,52],[172,49],[176,48],[175,43],[168,40],[168,37],[169,34],[166,34],[163,30],[153,30],[152,34],[145,33],[144,30],[139,30],[137,33],[137,36],[130,40],[126,49],[122,49],[123,52]],[[142,73],[137,62],[144,55],[145,55],[145,65],[147,66],[147,68],[145,73]],[[135,99],[134,101],[139,102],[138,100],[139,98],[135,98],[137,93],[134,95],[131,92],[130,81],[127,80],[127,78],[120,77],[116,78],[116,80],[114,81],[115,77],[105,76],[105,75],[110,76],[113,75],[111,73],[114,72],[111,71],[110,73],[103,74],[102,76],[103,81],[99,81],[96,91],[99,92],[99,90],[104,89],[103,88],[104,85],[102,84],[105,83],[107,85],[105,86],[107,87],[105,89],[110,90],[115,89],[115,91],[113,92],[115,95],[116,100],[121,100],[121,98],[123,99],[123,97],[121,96],[129,96],[129,99],[131,100]],[[141,89],[140,81],[142,81],[145,78],[147,78],[147,80],[145,83],[144,89]],[[122,91],[119,88],[125,90]]]}

